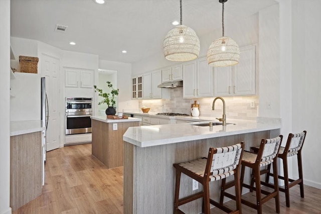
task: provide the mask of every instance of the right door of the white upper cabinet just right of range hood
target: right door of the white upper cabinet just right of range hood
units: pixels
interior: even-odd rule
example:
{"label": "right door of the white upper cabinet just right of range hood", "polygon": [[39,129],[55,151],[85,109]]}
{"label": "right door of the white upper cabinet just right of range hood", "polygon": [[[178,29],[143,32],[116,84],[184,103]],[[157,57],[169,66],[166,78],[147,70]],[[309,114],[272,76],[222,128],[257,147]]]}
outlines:
{"label": "right door of the white upper cabinet just right of range hood", "polygon": [[213,67],[209,66],[206,57],[197,60],[196,95],[213,96]]}

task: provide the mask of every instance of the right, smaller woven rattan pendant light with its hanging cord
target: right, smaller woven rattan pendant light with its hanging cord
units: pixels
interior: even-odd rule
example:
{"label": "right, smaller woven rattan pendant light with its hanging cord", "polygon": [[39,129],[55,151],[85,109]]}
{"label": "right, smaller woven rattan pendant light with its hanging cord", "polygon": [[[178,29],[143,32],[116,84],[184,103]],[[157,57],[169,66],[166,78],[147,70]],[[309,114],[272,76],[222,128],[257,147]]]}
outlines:
{"label": "right, smaller woven rattan pendant light with its hanging cord", "polygon": [[231,66],[239,63],[240,49],[236,42],[224,36],[224,3],[227,0],[219,0],[222,3],[222,28],[223,36],[215,40],[207,51],[207,61],[210,66]]}

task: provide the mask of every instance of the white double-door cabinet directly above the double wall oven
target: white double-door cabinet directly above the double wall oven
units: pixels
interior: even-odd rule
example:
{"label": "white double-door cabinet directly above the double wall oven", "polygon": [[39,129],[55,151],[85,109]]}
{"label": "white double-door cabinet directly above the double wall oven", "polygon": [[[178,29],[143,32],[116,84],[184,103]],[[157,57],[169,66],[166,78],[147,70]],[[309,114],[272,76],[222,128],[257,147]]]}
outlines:
{"label": "white double-door cabinet directly above the double wall oven", "polygon": [[66,69],[65,70],[65,86],[92,88],[94,80],[94,72],[87,70]]}

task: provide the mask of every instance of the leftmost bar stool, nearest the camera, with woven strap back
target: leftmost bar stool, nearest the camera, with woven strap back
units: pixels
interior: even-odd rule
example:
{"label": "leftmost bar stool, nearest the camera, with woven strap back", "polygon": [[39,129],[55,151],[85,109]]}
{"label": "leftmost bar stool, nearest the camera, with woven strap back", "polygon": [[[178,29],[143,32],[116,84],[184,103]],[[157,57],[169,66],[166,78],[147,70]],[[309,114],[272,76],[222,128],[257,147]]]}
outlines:
{"label": "leftmost bar stool, nearest the camera, with woven strap back", "polygon": [[[241,213],[241,191],[240,191],[240,175],[239,163],[243,155],[244,142],[239,144],[209,149],[207,158],[176,163],[176,185],[174,199],[174,213],[184,213],[179,209],[180,205],[188,203],[203,197],[203,212],[210,213],[210,203],[218,208],[230,213]],[[203,185],[203,191],[179,199],[181,173],[197,180]],[[236,210],[231,210],[224,206],[223,203],[218,203],[210,199],[209,182],[217,181],[234,174],[235,192],[236,192]]]}

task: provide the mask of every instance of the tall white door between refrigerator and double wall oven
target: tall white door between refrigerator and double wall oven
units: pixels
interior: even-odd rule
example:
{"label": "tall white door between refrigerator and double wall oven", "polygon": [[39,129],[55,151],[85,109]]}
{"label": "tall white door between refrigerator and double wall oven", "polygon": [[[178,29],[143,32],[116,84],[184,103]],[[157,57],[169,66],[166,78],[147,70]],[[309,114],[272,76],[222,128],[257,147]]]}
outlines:
{"label": "tall white door between refrigerator and double wall oven", "polygon": [[60,61],[57,58],[42,54],[42,75],[46,77],[48,97],[48,128],[46,132],[46,151],[58,149],[60,145],[59,118],[59,71]]}

